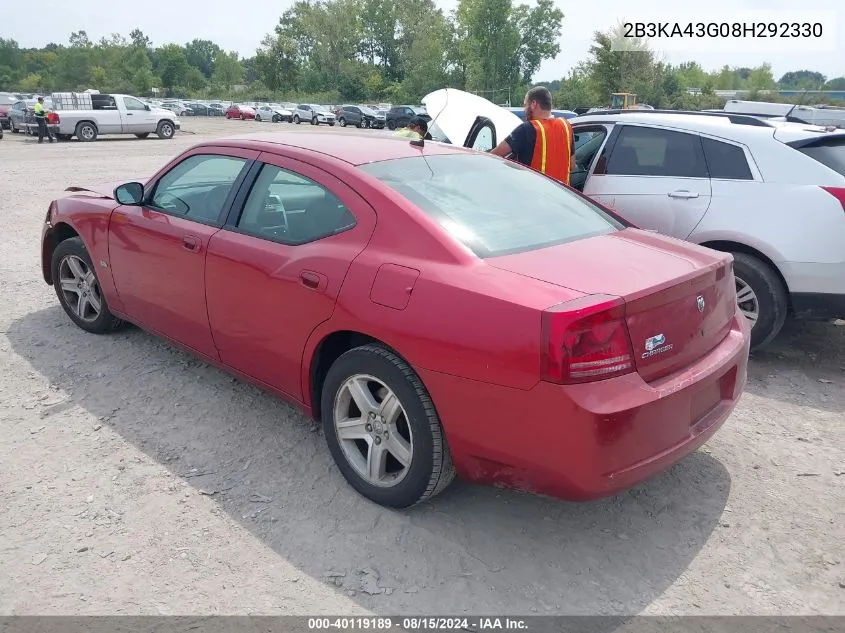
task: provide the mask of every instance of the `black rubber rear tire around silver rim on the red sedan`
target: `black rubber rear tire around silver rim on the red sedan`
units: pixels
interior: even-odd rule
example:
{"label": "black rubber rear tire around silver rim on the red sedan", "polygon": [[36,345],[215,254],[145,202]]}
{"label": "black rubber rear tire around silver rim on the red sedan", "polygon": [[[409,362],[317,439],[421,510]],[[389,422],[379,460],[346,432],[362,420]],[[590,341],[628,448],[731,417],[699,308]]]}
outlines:
{"label": "black rubber rear tire around silver rim on the red sedan", "polygon": [[[389,487],[375,486],[349,463],[334,423],[334,403],[343,384],[356,374],[373,376],[396,394],[405,410],[413,437],[410,465],[405,476]],[[320,399],[326,443],[338,469],[355,490],[371,501],[391,508],[407,508],[434,497],[455,478],[452,456],[434,403],[413,369],[379,345],[349,350],[329,368]]]}

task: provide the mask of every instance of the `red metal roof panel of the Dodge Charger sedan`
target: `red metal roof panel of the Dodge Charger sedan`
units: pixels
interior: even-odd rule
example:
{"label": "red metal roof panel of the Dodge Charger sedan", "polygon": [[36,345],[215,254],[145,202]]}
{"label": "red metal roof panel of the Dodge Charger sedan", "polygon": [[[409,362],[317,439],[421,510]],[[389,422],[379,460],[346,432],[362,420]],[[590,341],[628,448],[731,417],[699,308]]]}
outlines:
{"label": "red metal roof panel of the Dodge Charger sedan", "polygon": [[368,134],[319,134],[315,132],[255,132],[201,143],[206,145],[233,145],[274,152],[274,146],[284,145],[301,150],[325,154],[350,165],[363,165],[383,160],[458,154],[472,150],[426,141],[423,147],[411,145],[407,138],[372,136]]}

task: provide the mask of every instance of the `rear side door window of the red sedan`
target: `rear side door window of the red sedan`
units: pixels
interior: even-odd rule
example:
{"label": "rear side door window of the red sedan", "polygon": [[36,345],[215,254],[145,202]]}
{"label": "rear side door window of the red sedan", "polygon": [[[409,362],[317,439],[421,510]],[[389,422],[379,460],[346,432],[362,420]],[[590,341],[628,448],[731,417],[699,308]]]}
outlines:
{"label": "rear side door window of the red sedan", "polygon": [[298,245],[355,226],[355,216],[328,189],[292,171],[264,165],[237,228],[280,244]]}

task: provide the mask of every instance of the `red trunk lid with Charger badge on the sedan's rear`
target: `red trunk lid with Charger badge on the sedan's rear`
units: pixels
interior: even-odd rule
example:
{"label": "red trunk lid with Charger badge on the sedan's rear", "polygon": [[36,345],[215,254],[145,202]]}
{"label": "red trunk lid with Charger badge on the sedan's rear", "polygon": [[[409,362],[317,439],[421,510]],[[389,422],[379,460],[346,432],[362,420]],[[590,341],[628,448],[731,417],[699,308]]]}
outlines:
{"label": "red trunk lid with Charger badge on the sedan's rear", "polygon": [[487,260],[496,268],[625,300],[637,371],[656,380],[705,355],[736,311],[730,255],[626,229]]}

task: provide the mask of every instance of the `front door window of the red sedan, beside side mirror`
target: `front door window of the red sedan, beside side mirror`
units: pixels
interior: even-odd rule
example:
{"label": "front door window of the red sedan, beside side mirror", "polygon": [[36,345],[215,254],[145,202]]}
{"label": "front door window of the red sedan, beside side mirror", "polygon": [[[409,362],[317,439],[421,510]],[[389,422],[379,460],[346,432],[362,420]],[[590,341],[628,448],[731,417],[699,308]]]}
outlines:
{"label": "front door window of the red sedan, beside side mirror", "polygon": [[245,159],[235,156],[189,156],[161,177],[148,204],[173,215],[215,223],[245,164]]}

